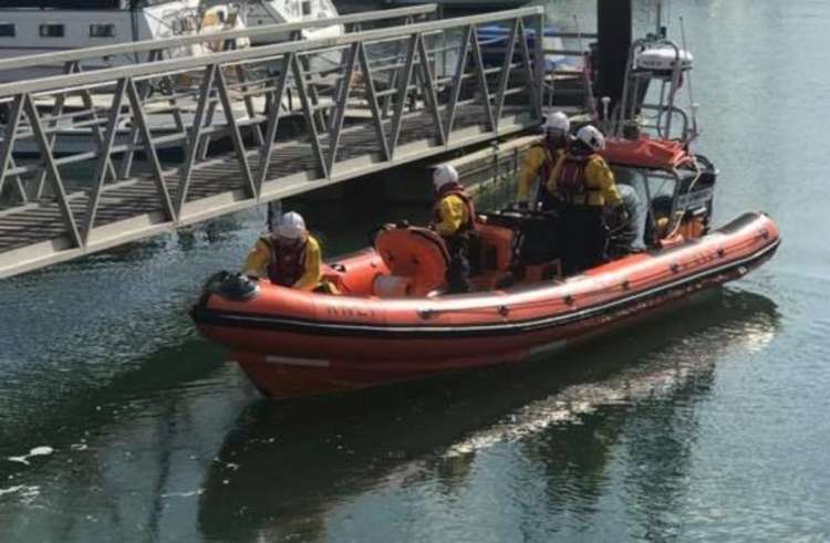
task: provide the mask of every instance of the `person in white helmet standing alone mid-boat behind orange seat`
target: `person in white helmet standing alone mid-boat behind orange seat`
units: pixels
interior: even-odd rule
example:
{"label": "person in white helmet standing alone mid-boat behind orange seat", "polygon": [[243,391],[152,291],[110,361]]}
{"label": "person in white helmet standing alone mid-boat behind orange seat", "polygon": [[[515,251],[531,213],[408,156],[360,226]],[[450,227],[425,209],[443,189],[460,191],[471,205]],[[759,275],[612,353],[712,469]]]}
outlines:
{"label": "person in white helmet standing alone mid-boat behind orange seat", "polygon": [[449,253],[449,292],[471,292],[469,246],[476,217],[473,200],[458,182],[458,171],[453,166],[440,165],[435,168],[433,185],[436,194],[433,226],[444,239]]}

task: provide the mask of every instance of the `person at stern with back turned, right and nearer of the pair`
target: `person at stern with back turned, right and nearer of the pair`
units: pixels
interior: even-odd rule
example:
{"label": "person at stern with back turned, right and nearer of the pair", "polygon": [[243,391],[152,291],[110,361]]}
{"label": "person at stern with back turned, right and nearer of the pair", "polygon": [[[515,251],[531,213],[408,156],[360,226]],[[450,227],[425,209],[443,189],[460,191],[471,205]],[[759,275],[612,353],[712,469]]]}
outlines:
{"label": "person at stern with back turned, right and nearer of the pair", "polygon": [[566,274],[602,263],[608,240],[603,207],[622,205],[614,174],[599,155],[604,148],[602,133],[583,126],[569,150],[560,155],[548,180],[548,190],[564,206],[561,234]]}

